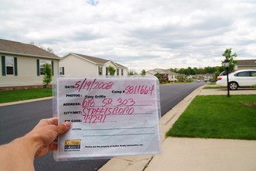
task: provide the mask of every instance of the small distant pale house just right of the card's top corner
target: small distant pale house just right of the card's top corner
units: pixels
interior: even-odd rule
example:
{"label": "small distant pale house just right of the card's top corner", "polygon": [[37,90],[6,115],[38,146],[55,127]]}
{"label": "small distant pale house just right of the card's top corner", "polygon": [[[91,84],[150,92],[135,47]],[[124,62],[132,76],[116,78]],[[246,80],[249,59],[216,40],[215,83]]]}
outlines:
{"label": "small distant pale house just right of the card's top corner", "polygon": [[146,72],[146,75],[161,75],[160,78],[160,82],[167,82],[167,81],[171,81],[171,82],[176,82],[177,81],[177,73],[175,72],[170,72],[169,69],[160,69],[160,68],[156,68],[156,69],[152,69]]}

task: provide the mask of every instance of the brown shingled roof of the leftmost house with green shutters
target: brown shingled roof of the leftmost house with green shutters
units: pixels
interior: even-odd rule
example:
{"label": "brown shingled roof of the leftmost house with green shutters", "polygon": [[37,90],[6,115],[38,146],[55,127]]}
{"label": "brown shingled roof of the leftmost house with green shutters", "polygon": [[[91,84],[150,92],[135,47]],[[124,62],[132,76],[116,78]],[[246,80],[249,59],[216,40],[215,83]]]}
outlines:
{"label": "brown shingled roof of the leftmost house with green shutters", "polygon": [[11,40],[0,39],[0,53],[10,55],[22,55],[39,58],[54,58],[60,59],[57,55],[51,54],[40,47],[36,47],[32,44],[23,44]]}

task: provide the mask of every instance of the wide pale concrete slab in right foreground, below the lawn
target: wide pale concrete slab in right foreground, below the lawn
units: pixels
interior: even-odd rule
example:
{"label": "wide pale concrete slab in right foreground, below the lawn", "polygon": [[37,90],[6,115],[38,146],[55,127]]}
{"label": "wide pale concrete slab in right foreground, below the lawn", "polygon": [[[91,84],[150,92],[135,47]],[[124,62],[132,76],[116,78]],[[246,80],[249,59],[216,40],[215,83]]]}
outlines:
{"label": "wide pale concrete slab in right foreground, below the lawn", "polygon": [[145,171],[255,171],[256,141],[167,138]]}

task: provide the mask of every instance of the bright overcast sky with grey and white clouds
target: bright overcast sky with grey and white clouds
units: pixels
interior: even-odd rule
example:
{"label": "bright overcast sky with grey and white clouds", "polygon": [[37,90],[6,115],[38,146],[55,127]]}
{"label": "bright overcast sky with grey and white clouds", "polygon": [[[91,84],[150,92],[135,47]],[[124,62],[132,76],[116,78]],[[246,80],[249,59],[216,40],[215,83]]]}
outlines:
{"label": "bright overcast sky with grey and white clouds", "polygon": [[0,0],[0,39],[116,61],[139,72],[256,58],[255,0]]}

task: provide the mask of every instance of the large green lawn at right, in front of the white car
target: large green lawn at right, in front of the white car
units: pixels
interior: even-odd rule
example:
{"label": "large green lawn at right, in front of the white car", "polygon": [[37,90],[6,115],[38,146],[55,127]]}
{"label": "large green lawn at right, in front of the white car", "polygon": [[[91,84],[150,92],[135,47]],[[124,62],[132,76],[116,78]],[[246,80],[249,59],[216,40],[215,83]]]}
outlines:
{"label": "large green lawn at right, in front of the white car", "polygon": [[256,96],[196,96],[167,136],[256,140]]}

